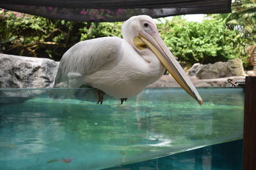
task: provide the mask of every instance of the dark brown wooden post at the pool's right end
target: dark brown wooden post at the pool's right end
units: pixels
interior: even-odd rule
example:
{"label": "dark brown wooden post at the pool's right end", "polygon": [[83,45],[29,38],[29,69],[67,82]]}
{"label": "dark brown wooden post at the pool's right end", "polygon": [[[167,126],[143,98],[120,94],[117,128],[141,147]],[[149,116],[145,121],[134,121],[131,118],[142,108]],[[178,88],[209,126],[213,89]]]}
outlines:
{"label": "dark brown wooden post at the pool's right end", "polygon": [[256,169],[256,77],[245,78],[243,169]]}

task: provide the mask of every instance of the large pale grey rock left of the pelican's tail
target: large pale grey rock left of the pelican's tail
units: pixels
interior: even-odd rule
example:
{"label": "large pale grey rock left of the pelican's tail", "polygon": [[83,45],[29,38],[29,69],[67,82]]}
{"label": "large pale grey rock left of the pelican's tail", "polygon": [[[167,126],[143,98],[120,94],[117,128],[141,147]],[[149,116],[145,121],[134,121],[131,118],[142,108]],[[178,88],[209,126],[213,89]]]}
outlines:
{"label": "large pale grey rock left of the pelican's tail", "polygon": [[58,62],[0,53],[0,89],[52,87]]}

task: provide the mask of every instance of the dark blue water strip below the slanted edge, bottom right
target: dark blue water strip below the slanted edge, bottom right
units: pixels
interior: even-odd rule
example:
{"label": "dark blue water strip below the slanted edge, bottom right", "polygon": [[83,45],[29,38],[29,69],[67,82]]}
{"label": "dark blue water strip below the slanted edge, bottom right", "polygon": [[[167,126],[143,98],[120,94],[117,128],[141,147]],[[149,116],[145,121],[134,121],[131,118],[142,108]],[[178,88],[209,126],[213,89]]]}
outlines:
{"label": "dark blue water strip below the slanted edge, bottom right", "polygon": [[138,162],[105,170],[129,169],[195,169],[224,170],[242,169],[243,140],[205,146],[166,157]]}

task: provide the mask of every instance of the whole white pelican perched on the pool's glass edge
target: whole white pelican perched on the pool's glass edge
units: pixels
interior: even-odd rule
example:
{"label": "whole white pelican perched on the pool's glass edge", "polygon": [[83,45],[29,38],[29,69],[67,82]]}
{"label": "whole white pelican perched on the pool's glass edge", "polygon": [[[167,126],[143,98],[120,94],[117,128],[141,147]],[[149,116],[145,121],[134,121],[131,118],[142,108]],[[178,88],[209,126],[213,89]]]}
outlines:
{"label": "whole white pelican perched on the pool's glass edge", "polygon": [[98,89],[98,103],[102,104],[106,93],[120,98],[122,104],[158,80],[166,68],[190,96],[203,103],[151,17],[129,18],[122,26],[122,36],[95,38],[72,46],[60,60],[54,87],[88,85]]}

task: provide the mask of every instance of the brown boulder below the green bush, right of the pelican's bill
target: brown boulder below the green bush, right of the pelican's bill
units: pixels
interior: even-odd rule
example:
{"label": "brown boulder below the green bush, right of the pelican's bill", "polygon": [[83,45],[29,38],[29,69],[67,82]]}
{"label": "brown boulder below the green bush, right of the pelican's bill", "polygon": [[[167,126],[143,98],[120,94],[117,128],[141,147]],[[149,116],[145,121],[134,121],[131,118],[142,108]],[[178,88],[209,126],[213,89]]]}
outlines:
{"label": "brown boulder below the green bush, right of the pelican's bill", "polygon": [[227,62],[216,62],[207,65],[196,63],[189,69],[189,76],[197,76],[199,79],[244,76],[243,62],[236,58]]}

